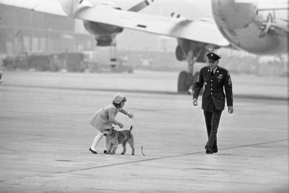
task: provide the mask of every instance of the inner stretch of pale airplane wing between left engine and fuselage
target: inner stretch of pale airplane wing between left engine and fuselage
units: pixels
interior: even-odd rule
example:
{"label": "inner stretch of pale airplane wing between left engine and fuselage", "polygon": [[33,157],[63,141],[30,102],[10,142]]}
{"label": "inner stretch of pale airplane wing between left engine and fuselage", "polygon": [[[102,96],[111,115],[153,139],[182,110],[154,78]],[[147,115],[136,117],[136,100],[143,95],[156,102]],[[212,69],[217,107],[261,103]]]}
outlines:
{"label": "inner stretch of pale airplane wing between left engine and fuselage", "polygon": [[104,10],[98,7],[82,8],[76,12],[75,17],[221,47],[229,45],[229,42],[219,32],[216,23],[208,20],[192,21],[181,17],[173,18],[123,10]]}

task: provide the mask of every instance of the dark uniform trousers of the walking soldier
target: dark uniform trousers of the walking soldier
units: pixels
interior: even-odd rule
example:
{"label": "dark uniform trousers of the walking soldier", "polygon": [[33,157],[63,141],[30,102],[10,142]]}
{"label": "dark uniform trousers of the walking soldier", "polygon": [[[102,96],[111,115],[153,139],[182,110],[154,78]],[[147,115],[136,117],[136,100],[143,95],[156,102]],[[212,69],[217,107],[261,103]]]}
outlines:
{"label": "dark uniform trousers of the walking soldier", "polygon": [[212,151],[218,151],[217,147],[217,131],[219,127],[220,118],[222,111],[216,109],[214,106],[213,112],[204,111],[208,142],[206,145],[209,145],[212,148]]}

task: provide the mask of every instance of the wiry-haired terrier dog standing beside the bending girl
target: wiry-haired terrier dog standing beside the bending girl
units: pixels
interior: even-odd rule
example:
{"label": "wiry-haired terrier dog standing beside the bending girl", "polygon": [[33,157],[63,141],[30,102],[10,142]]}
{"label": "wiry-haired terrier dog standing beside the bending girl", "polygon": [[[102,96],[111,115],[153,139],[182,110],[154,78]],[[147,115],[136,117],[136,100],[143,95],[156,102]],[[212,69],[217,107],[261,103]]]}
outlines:
{"label": "wiry-haired terrier dog standing beside the bending girl", "polygon": [[117,131],[114,129],[114,127],[105,127],[103,135],[109,136],[110,139],[110,147],[106,154],[113,155],[115,154],[115,151],[117,150],[117,145],[122,144],[123,146],[123,152],[121,152],[121,155],[126,153],[126,142],[129,143],[129,146],[132,148],[132,155],[135,155],[135,147],[133,144],[133,135],[132,135],[132,126],[129,130],[123,130],[123,131]]}

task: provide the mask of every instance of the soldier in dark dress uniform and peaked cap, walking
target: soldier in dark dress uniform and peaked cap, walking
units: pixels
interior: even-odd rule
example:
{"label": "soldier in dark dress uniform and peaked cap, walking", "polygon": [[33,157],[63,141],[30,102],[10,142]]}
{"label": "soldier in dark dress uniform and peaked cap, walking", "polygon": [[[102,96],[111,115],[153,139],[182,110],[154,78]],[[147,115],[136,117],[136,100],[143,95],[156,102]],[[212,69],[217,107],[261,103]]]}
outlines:
{"label": "soldier in dark dress uniform and peaked cap, walking", "polygon": [[[193,104],[198,105],[197,99],[204,85],[202,96],[202,109],[207,127],[208,142],[205,146],[207,154],[218,152],[217,130],[222,111],[225,109],[227,99],[228,113],[233,113],[232,81],[228,70],[218,66],[219,57],[215,53],[207,54],[209,66],[200,70],[193,88]],[[225,88],[225,93],[224,93]]]}

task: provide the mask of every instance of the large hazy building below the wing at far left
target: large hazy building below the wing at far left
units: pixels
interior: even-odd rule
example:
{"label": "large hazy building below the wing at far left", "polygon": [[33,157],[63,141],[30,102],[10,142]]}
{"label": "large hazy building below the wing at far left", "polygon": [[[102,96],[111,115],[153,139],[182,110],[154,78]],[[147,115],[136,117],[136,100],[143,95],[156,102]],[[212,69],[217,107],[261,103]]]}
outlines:
{"label": "large hazy building below the wing at far left", "polygon": [[92,35],[76,31],[72,18],[0,6],[0,53],[59,53],[93,49]]}

